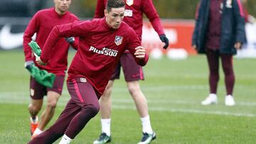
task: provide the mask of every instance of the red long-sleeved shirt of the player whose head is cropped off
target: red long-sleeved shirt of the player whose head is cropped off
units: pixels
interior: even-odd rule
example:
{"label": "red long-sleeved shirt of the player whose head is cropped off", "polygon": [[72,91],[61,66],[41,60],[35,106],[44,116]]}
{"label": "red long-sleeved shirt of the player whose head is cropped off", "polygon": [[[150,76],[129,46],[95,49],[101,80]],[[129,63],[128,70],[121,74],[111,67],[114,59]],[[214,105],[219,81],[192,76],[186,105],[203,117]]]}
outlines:
{"label": "red long-sleeved shirt of the player whose head is cropped off", "polygon": [[[97,0],[95,18],[103,18],[107,0]],[[124,22],[131,26],[142,40],[143,13],[149,18],[158,35],[164,34],[163,26],[152,0],[127,0],[125,3]]]}

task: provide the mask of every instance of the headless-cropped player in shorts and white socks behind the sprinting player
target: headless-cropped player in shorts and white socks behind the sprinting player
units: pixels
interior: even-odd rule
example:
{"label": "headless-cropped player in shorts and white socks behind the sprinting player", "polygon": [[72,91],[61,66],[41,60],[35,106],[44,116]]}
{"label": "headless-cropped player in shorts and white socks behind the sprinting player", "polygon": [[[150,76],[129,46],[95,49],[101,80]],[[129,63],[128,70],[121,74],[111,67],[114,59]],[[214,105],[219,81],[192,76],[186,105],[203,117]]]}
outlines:
{"label": "headless-cropped player in shorts and white socks behind the sprinting player", "polygon": [[[102,18],[104,16],[104,9],[106,8],[107,0],[97,0],[97,7],[95,10],[95,18]],[[143,13],[149,18],[159,38],[165,43],[164,49],[168,48],[169,40],[164,34],[163,27],[156,9],[151,0],[127,0],[125,3],[124,22],[131,26],[137,33],[139,40],[142,40],[142,25]],[[114,79],[119,79],[120,69],[124,72],[124,78],[127,82],[127,89],[134,99],[137,106],[137,111],[142,120],[142,133],[143,137],[141,143],[149,143],[156,138],[156,134],[151,128],[149,119],[148,106],[146,98],[139,87],[139,80],[144,79],[142,67],[132,58],[129,51],[124,52],[120,58],[117,67],[112,74],[110,82],[107,84],[104,94],[100,99],[101,123],[102,133],[94,144],[107,143],[111,141],[110,137],[110,115],[111,115],[111,93],[114,84]]]}

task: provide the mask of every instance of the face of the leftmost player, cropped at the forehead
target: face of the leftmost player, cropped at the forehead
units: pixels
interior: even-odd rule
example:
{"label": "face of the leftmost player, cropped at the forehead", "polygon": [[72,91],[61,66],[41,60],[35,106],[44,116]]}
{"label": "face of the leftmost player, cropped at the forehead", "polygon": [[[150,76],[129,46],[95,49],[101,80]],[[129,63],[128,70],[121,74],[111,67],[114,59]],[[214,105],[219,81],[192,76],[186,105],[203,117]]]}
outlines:
{"label": "face of the leftmost player, cropped at the forehead", "polygon": [[66,11],[68,11],[68,8],[71,4],[71,0],[54,0],[54,4],[55,11],[57,11],[58,14],[63,14]]}

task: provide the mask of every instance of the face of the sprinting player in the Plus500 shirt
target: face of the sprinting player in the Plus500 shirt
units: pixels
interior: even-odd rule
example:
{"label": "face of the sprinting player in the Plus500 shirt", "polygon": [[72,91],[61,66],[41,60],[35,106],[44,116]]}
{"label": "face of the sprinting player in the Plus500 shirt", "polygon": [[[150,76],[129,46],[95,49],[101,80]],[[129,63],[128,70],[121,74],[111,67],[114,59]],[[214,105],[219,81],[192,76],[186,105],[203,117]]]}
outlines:
{"label": "face of the sprinting player in the Plus500 shirt", "polygon": [[105,10],[107,24],[111,28],[117,29],[120,27],[124,19],[124,8],[112,8],[109,12]]}

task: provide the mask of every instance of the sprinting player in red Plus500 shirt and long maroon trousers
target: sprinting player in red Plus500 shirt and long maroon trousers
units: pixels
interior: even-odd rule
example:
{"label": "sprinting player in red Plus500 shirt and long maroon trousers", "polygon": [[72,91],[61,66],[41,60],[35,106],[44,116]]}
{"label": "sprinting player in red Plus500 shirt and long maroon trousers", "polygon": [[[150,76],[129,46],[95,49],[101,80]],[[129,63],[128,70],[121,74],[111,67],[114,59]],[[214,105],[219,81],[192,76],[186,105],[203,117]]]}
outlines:
{"label": "sprinting player in red Plus500 shirt and long maroon trousers", "polygon": [[41,65],[49,62],[59,38],[80,38],[78,51],[68,70],[67,87],[71,99],[58,120],[30,143],[53,143],[63,135],[60,143],[70,143],[88,121],[100,111],[98,99],[125,50],[129,50],[138,65],[146,65],[146,54],[137,34],[124,18],[124,1],[108,0],[105,18],[75,21],[55,26],[51,31],[41,57]]}

